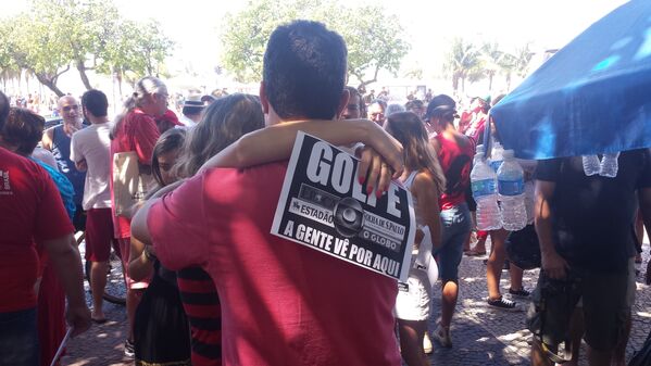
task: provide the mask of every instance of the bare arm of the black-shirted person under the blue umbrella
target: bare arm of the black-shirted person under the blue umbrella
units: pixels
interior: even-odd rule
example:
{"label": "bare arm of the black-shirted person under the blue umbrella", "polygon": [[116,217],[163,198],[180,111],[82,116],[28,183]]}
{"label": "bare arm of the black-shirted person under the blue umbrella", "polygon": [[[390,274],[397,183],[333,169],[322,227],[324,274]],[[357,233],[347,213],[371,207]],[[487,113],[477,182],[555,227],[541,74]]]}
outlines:
{"label": "bare arm of the black-shirted person under the blue umbrella", "polygon": [[540,254],[542,258],[542,270],[550,278],[565,278],[567,262],[559,255],[554,247],[552,235],[552,216],[549,200],[554,194],[556,184],[552,181],[536,180],[536,212],[535,223],[538,241],[540,242]]}

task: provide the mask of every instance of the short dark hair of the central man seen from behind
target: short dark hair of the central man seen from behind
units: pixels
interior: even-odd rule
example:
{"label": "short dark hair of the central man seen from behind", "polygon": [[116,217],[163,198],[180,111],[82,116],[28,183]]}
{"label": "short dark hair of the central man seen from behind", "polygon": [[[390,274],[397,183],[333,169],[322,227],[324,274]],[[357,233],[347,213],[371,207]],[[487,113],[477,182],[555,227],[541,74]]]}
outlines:
{"label": "short dark hair of the central man seen from behind", "polygon": [[264,52],[270,104],[280,118],[333,118],[346,83],[347,58],[343,38],[322,23],[278,26]]}

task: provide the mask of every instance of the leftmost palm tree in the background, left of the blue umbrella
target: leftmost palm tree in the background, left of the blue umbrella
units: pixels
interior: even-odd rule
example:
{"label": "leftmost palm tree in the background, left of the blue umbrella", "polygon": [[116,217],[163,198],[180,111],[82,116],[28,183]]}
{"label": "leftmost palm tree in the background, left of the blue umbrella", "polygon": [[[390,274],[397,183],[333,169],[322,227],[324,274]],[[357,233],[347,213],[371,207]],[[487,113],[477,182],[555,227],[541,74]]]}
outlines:
{"label": "leftmost palm tree in the background, left of the blue umbrella", "polygon": [[454,92],[459,90],[459,80],[461,80],[461,90],[465,91],[466,78],[476,80],[481,77],[479,72],[481,60],[479,55],[480,50],[472,42],[467,42],[462,38],[453,39],[443,68],[452,76]]}

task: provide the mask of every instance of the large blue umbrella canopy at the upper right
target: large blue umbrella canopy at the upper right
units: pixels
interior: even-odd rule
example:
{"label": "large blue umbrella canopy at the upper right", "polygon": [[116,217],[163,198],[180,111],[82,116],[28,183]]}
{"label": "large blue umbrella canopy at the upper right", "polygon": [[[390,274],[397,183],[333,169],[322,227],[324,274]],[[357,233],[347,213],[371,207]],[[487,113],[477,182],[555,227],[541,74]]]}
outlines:
{"label": "large blue umbrella canopy at the upper right", "polygon": [[490,113],[522,159],[651,147],[651,1],[591,25]]}

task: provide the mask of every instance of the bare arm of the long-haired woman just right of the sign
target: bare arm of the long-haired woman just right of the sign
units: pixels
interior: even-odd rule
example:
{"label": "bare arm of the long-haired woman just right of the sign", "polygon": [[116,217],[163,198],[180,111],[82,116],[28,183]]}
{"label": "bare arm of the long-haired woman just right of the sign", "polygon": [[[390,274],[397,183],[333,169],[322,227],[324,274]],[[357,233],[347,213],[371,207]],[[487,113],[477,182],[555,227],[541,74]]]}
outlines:
{"label": "bare arm of the long-haired woman just right of the sign", "polygon": [[428,173],[418,173],[412,186],[412,193],[418,200],[416,213],[429,227],[431,245],[434,249],[441,247],[442,228],[438,204],[439,192],[436,190],[434,179]]}

